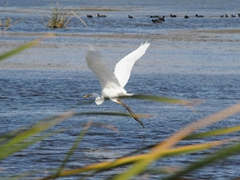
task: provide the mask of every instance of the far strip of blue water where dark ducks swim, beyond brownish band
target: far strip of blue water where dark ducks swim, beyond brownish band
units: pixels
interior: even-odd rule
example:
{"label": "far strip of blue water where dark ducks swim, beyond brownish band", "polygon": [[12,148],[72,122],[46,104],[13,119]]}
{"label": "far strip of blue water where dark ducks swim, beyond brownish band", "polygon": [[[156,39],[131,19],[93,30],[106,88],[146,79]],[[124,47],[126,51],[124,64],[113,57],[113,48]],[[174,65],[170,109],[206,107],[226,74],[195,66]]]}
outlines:
{"label": "far strip of blue water where dark ducks swim, beyond brownish band", "polygon": [[[163,33],[176,29],[209,29],[209,28],[239,28],[240,18],[231,18],[231,14],[238,16],[239,0],[225,1],[58,1],[60,12],[74,11],[87,24],[84,28],[77,17],[72,18],[67,29],[59,29],[64,33]],[[1,18],[12,17],[15,22],[22,19],[21,23],[14,25],[9,31],[46,32],[43,21],[47,24],[47,14],[51,16],[51,7],[55,3],[49,1],[10,1],[6,8],[6,1],[0,1]],[[105,14],[107,18],[96,18],[96,14]],[[93,18],[87,18],[91,14]],[[177,18],[169,18],[170,14]],[[204,15],[205,18],[195,18],[195,15]],[[220,18],[228,14],[230,18]],[[132,15],[133,19],[129,19]],[[164,23],[153,24],[151,15],[166,16]],[[188,15],[190,18],[183,18]],[[56,32],[54,31],[54,32]]]}

